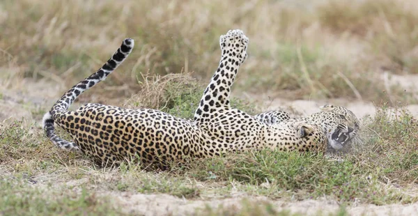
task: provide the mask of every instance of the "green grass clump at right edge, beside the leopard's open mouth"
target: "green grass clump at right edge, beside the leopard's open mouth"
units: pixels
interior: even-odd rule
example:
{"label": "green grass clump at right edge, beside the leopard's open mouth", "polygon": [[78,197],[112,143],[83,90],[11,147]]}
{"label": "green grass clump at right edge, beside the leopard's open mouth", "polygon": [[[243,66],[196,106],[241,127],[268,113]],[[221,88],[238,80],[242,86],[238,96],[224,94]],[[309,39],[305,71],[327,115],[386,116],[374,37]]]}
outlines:
{"label": "green grass clump at right edge, beside the leopard's open mouth", "polygon": [[[367,157],[374,169],[393,182],[406,184],[418,181],[418,122],[403,109],[394,111],[387,107],[378,109],[375,118],[369,119],[369,132],[374,130],[366,146],[371,148]],[[392,118],[388,118],[387,114]],[[382,179],[383,180],[383,179]]]}

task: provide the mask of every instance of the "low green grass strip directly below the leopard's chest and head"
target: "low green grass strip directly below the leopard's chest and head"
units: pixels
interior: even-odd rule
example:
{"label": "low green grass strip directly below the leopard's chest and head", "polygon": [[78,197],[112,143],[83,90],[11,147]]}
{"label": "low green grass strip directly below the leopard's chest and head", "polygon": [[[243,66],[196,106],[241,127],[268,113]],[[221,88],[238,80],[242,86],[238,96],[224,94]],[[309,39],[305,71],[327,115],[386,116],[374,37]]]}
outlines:
{"label": "low green grass strip directly below the leopard's chest and head", "polygon": [[[189,175],[201,181],[238,181],[249,193],[272,198],[318,199],[341,202],[357,199],[375,204],[410,203],[414,198],[381,187],[384,173],[346,159],[325,160],[322,155],[262,151],[194,163]],[[368,164],[369,165],[369,164]],[[396,165],[394,164],[394,167]],[[210,173],[210,176],[208,175]],[[210,178],[211,177],[211,178]]]}

